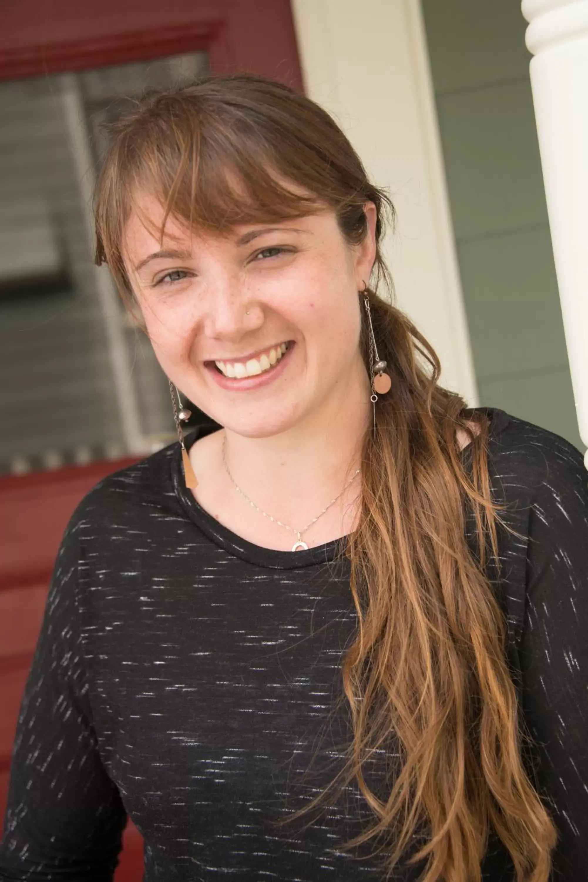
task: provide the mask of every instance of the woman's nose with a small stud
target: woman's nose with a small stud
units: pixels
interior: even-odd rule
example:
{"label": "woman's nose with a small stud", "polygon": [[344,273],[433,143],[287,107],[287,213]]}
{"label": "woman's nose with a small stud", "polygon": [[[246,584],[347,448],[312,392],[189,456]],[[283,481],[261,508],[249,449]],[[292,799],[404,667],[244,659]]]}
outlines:
{"label": "woman's nose with a small stud", "polygon": [[208,286],[202,325],[206,337],[240,340],[263,323],[260,304],[239,279],[218,279]]}

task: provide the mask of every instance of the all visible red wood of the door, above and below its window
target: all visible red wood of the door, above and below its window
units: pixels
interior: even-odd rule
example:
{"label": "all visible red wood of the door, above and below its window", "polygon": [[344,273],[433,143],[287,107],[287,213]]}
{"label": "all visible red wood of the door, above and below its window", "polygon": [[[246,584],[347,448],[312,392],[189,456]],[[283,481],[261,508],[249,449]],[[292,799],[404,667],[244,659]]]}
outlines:
{"label": "all visible red wood of the door, above and below its window", "polygon": [[[197,50],[208,53],[213,73],[250,71],[302,91],[290,0],[7,0],[0,80]],[[0,704],[5,693],[4,704],[11,705],[0,727],[0,797],[9,763],[5,742],[11,742],[63,527],[93,483],[123,464],[0,478],[0,520],[6,525],[0,534],[0,612],[4,637],[11,632],[4,653],[0,646]],[[142,841],[129,825],[117,882],[138,882],[142,866]]]}

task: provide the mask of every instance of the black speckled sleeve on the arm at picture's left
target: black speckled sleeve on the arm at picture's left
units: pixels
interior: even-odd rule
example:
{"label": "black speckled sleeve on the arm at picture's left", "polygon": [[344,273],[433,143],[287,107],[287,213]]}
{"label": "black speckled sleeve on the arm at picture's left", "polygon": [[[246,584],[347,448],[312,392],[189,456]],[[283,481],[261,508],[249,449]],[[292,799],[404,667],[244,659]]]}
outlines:
{"label": "black speckled sleeve on the arm at picture's left", "polygon": [[107,882],[125,811],[100,762],[78,629],[78,542],[66,532],[11,762],[0,880]]}

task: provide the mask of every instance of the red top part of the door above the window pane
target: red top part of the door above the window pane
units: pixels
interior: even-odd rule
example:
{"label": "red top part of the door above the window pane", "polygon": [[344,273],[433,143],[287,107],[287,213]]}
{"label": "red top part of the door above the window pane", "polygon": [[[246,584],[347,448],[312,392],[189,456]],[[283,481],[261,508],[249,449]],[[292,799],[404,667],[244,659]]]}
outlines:
{"label": "red top part of the door above the window pane", "polygon": [[0,79],[198,49],[215,73],[252,71],[302,89],[290,0],[9,0]]}

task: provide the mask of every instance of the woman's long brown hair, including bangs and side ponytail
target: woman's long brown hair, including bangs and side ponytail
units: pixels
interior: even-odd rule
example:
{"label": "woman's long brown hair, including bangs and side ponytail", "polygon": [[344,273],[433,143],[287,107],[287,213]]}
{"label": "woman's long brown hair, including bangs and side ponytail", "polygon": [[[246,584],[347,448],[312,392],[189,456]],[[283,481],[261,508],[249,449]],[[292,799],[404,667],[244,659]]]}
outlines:
{"label": "woman's long brown hair, including bangs and side ponytail", "polygon": [[[355,841],[385,843],[389,870],[416,833],[423,882],[480,880],[491,828],[518,882],[546,882],[555,826],[522,761],[522,721],[506,657],[507,629],[487,565],[498,562],[501,506],[491,498],[488,416],[439,385],[434,350],[381,296],[385,193],[331,116],[287,86],[250,75],[209,77],[147,93],[111,123],[95,202],[96,260],[127,299],[123,227],[138,188],[191,228],[226,232],[330,206],[348,243],[376,205],[376,272],[368,290],[391,392],[363,442],[359,527],[348,538],[358,630],[343,665],[354,739],[347,773],[373,823]],[[307,195],[301,195],[307,194]],[[160,235],[163,235],[163,227]],[[361,310],[362,312],[364,310]],[[361,348],[368,366],[365,327]],[[477,431],[468,422],[477,423]],[[456,431],[469,438],[471,474]],[[472,519],[477,548],[466,540]],[[367,759],[397,739],[387,794]]]}

